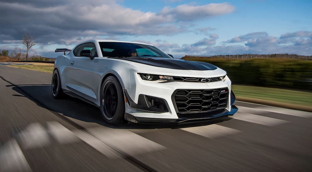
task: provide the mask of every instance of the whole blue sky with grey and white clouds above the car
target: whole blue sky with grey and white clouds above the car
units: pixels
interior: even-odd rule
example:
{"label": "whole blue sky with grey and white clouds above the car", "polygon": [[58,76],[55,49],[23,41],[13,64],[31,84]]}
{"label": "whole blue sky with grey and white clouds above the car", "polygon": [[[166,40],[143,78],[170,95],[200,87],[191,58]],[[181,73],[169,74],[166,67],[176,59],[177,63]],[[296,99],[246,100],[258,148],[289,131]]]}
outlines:
{"label": "whole blue sky with grey and white clouds above the car", "polygon": [[312,55],[310,0],[0,0],[0,50],[35,37],[31,54],[89,39],[150,43],[190,55]]}

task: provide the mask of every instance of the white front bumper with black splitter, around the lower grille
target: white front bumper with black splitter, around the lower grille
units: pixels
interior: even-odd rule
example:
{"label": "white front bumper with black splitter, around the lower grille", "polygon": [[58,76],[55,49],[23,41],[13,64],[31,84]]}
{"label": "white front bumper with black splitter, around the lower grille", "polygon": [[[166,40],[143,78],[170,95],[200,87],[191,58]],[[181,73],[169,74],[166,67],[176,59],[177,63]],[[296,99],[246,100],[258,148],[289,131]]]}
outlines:
{"label": "white front bumper with black splitter, around the lower grille", "polygon": [[[233,105],[235,95],[231,90],[231,81],[217,81],[211,83],[190,83],[190,82],[171,82],[171,83],[151,83],[143,81],[141,78],[132,78],[135,84],[130,88],[124,89],[125,119],[135,123],[181,123],[186,121],[205,121],[219,118],[222,116],[233,115],[238,110]],[[221,89],[227,88],[228,99],[227,106],[223,109],[216,109],[209,112],[179,114],[176,104],[172,99],[176,90],[179,89]],[[148,109],[140,106],[140,96],[147,95],[163,99],[167,106],[167,111]]]}

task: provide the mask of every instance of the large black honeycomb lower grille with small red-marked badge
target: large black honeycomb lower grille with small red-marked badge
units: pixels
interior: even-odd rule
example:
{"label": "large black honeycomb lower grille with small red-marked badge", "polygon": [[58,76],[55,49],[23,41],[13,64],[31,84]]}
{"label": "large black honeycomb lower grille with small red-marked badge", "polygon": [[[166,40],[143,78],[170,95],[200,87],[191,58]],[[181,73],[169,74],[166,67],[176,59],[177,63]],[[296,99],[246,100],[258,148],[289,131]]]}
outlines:
{"label": "large black honeycomb lower grille with small red-marked badge", "polygon": [[227,107],[229,90],[222,89],[179,89],[174,94],[178,113],[209,112]]}

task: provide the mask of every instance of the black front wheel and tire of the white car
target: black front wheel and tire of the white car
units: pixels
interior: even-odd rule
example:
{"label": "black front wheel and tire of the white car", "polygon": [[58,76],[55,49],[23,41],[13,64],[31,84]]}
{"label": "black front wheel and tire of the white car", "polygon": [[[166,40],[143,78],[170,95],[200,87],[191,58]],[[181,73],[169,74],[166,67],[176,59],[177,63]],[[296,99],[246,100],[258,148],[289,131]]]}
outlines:
{"label": "black front wheel and tire of the white car", "polygon": [[101,86],[100,110],[110,124],[119,124],[124,119],[124,93],[114,76],[107,77]]}

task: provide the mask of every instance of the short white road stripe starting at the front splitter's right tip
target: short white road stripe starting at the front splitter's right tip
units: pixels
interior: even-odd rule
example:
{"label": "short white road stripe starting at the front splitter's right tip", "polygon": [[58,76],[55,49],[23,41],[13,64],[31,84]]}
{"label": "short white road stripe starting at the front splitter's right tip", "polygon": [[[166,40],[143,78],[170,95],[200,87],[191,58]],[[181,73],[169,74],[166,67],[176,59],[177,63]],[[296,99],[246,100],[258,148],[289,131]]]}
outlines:
{"label": "short white road stripe starting at the front splitter's right tip", "polygon": [[236,112],[236,114],[233,115],[232,118],[246,121],[246,122],[267,125],[267,126],[274,126],[274,125],[279,125],[279,124],[284,124],[284,123],[289,122],[289,121],[285,121],[281,119],[275,119],[275,118],[249,114],[249,113],[244,113],[244,112]]}

